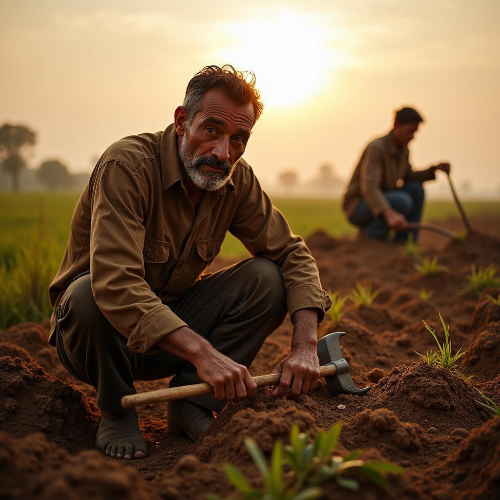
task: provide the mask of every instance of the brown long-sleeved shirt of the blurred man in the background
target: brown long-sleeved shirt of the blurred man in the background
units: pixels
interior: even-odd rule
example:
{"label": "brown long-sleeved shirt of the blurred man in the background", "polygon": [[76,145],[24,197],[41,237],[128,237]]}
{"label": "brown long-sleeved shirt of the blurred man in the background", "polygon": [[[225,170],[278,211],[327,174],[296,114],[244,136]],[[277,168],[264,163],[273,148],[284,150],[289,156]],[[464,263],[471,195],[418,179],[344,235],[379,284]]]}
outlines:
{"label": "brown long-sleeved shirt of the blurred man in the background", "polygon": [[374,217],[378,217],[390,204],[383,191],[397,189],[407,180],[430,180],[435,178],[432,167],[415,171],[409,163],[406,146],[397,148],[392,140],[392,131],[372,140],[361,154],[349,185],[343,194],[342,208],[351,216],[361,199],[364,199]]}

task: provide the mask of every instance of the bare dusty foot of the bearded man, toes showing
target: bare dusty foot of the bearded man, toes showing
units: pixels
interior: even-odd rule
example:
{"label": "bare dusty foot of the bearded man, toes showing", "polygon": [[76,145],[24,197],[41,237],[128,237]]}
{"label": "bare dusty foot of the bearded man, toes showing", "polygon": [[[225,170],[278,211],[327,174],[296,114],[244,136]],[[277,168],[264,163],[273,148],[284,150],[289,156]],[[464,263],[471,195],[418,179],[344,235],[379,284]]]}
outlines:
{"label": "bare dusty foot of the bearded man, toes showing", "polygon": [[129,409],[120,415],[102,411],[95,446],[102,453],[116,458],[145,458],[147,446],[139,429],[137,411]]}

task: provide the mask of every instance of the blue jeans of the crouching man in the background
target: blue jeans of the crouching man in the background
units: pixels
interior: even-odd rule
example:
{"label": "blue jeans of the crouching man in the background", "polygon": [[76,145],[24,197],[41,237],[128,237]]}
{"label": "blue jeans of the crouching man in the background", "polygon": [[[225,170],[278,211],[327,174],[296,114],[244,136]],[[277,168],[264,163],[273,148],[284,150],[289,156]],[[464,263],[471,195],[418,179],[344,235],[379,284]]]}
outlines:
{"label": "blue jeans of the crouching man in the background", "polygon": [[[419,222],[423,206],[423,187],[417,180],[405,182],[400,189],[384,191],[387,201],[394,210],[402,213],[408,222]],[[349,220],[361,227],[361,229],[370,237],[385,239],[389,233],[389,226],[384,218],[373,217],[366,201],[362,199]],[[408,232],[413,234],[413,240],[416,241],[418,230],[398,231],[394,236],[396,240],[406,240]]]}

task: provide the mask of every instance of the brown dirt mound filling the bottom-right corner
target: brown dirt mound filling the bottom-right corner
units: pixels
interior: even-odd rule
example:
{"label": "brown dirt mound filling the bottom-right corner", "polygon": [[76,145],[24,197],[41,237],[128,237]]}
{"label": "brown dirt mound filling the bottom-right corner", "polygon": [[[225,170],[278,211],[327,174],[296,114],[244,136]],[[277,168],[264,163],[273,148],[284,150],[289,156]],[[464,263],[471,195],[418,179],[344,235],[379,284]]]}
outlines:
{"label": "brown dirt mound filling the bottom-right corner", "polygon": [[429,471],[458,500],[496,500],[500,491],[500,418],[472,430],[458,449]]}

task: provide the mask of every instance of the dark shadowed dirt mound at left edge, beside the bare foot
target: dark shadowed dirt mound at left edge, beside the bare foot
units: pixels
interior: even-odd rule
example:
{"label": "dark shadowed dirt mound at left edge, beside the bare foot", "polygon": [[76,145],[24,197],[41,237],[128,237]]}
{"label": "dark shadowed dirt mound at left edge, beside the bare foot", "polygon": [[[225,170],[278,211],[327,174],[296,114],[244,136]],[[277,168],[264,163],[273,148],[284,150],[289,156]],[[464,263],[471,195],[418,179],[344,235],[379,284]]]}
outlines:
{"label": "dark shadowed dirt mound at left edge, beside the bare foot", "polygon": [[14,437],[42,431],[76,452],[93,448],[98,425],[93,403],[72,386],[19,357],[0,357],[0,429]]}

